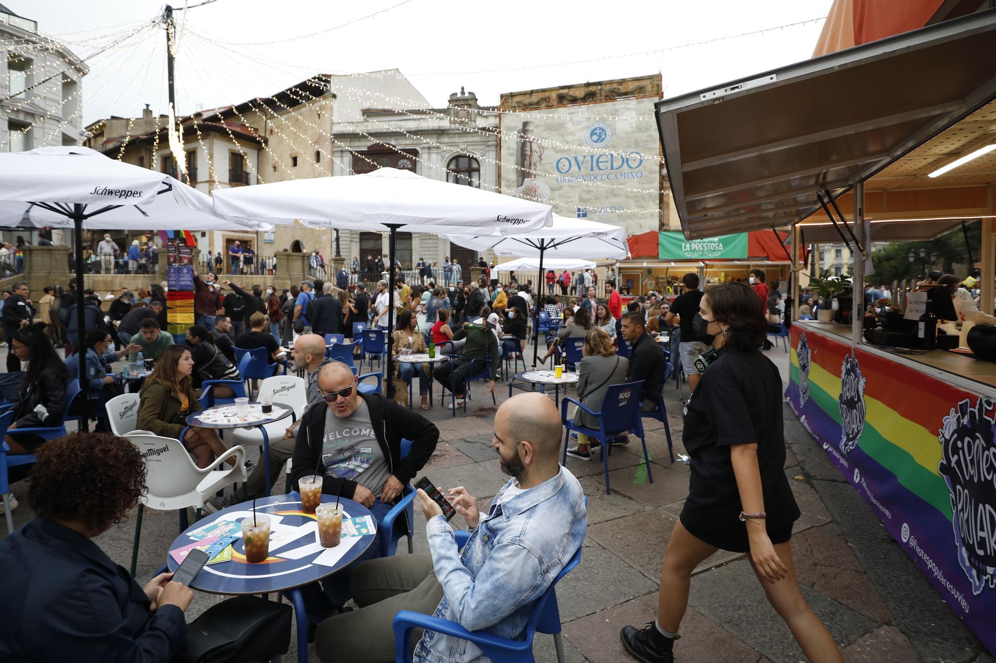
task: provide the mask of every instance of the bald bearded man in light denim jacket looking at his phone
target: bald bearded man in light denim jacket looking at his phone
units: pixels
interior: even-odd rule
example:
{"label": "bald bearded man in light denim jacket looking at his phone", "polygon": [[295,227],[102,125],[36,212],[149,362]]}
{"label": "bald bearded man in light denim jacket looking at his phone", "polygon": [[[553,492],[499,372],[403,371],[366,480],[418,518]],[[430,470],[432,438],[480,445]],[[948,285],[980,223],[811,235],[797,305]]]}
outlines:
{"label": "bald bearded man in light denim jacket looking at his phone", "polygon": [[[495,414],[491,446],[512,477],[488,513],[463,487],[448,491],[470,528],[457,550],[441,509],[421,490],[431,554],[372,559],[353,573],[359,610],[325,620],[315,649],[323,661],[393,661],[391,620],[399,610],[429,613],[468,630],[515,638],[534,602],[581,547],[588,526],[581,484],[558,464],[562,433],[553,401],[540,393],[508,399]],[[474,644],[426,631],[414,660],[486,661]]]}

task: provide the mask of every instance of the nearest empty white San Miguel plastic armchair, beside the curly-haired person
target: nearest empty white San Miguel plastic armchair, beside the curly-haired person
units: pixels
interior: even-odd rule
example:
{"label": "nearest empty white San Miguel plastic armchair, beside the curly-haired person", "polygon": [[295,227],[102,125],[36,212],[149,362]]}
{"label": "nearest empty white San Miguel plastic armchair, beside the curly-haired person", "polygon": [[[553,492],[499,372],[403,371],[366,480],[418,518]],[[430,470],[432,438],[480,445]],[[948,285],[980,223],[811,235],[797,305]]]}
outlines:
{"label": "nearest empty white San Miguel plastic armchair, beside the curly-haired person", "polygon": [[[204,502],[216,492],[231,484],[246,480],[246,452],[242,447],[232,447],[205,468],[197,467],[183,444],[171,437],[158,435],[125,435],[145,459],[147,492],[138,500],[138,514],[134,526],[134,547],[131,550],[131,576],[134,577],[138,559],[138,540],[141,537],[141,516],[148,506],[156,511],[184,512],[193,507],[200,519]],[[225,461],[235,460],[229,467]],[[180,522],[185,522],[181,518]],[[182,532],[181,527],[180,531]]]}

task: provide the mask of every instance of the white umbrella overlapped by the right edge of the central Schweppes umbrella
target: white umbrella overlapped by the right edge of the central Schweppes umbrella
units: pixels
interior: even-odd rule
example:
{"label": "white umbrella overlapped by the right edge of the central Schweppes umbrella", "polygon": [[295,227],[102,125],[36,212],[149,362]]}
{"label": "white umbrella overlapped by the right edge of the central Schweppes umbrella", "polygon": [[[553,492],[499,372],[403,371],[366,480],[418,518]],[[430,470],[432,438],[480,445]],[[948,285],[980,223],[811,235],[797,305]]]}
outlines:
{"label": "white umbrella overlapped by the right edge of the central Schweppes umbrella", "polygon": [[[499,256],[537,258],[540,279],[543,278],[544,260],[551,258],[606,258],[625,260],[629,257],[629,244],[625,229],[608,223],[573,219],[554,214],[551,226],[532,230],[528,233],[509,237],[452,235],[445,236],[450,242],[460,246],[485,251],[491,249]],[[500,266],[499,266],[500,269]],[[572,268],[568,268],[572,269]],[[539,325],[540,307],[536,307],[536,323]],[[533,337],[533,366],[539,349],[540,334]]]}

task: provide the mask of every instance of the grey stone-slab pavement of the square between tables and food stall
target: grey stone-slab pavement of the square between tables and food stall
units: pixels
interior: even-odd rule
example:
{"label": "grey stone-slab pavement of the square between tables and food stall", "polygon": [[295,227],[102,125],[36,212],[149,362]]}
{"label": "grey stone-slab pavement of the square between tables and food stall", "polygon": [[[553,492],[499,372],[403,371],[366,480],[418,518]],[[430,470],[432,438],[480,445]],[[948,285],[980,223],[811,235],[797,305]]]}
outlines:
{"label": "grey stone-slab pavement of the square between tables and food stall", "polygon": [[[787,379],[788,354],[779,347],[767,354]],[[495,406],[484,389],[482,382],[473,383],[473,400],[468,401],[466,414],[458,410],[453,418],[438,400],[427,412],[439,427],[440,443],[423,474],[440,487],[465,486],[486,511],[507,477],[501,474],[490,447]],[[687,386],[684,391],[687,395]],[[677,454],[683,452],[682,424],[673,380],[664,393]],[[496,394],[500,404],[508,396],[507,385],[499,383]],[[797,575],[806,599],[830,628],[845,660],[996,663],[891,540],[788,407],[784,418],[785,472],[802,511],[792,540]],[[646,423],[652,483],[642,466],[638,440],[614,449],[609,461],[613,486],[609,496],[600,462],[568,460],[568,468],[581,480],[589,500],[589,531],[581,565],[557,590],[566,656],[571,662],[631,660],[622,650],[620,629],[625,624],[642,626],[655,617],[663,552],[687,492],[688,468],[680,461],[670,463],[662,425]],[[255,450],[250,451],[250,456],[255,455]],[[274,485],[282,486],[283,479]],[[21,502],[14,512],[19,527],[32,516],[27,482],[14,485],[13,491]],[[454,524],[459,527],[460,521],[458,516]],[[145,512],[139,582],[163,563],[177,534],[176,525],[175,514]],[[424,518],[416,510],[416,552],[428,550],[423,526]],[[98,543],[127,566],[133,534],[133,523],[124,523],[102,535]],[[398,551],[405,553],[403,544]],[[188,618],[219,598],[198,593]],[[742,554],[718,552],[696,569],[681,635],[675,644],[679,661],[806,660],[765,600]],[[537,636],[534,652],[538,661],[555,661],[553,638]],[[294,653],[292,649],[292,656],[285,660],[294,660]],[[311,660],[318,660],[314,653]]]}

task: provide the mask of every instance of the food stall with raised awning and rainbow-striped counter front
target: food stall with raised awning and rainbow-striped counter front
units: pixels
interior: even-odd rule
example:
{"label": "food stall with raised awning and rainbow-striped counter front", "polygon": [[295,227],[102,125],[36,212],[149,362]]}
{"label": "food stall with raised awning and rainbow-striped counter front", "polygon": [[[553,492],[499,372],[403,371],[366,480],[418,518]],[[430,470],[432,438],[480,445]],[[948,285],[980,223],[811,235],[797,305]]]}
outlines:
{"label": "food stall with raised awning and rainbow-striped counter front", "polygon": [[[863,293],[871,242],[931,239],[981,219],[980,308],[991,315],[994,44],[989,10],[659,102],[685,237],[791,228],[790,255],[845,241]],[[791,266],[789,292],[800,271]],[[867,334],[863,301],[848,325],[792,323],[787,400],[996,651],[996,363],[960,342],[908,347],[918,323],[911,331],[907,312],[875,320],[888,333]]]}

